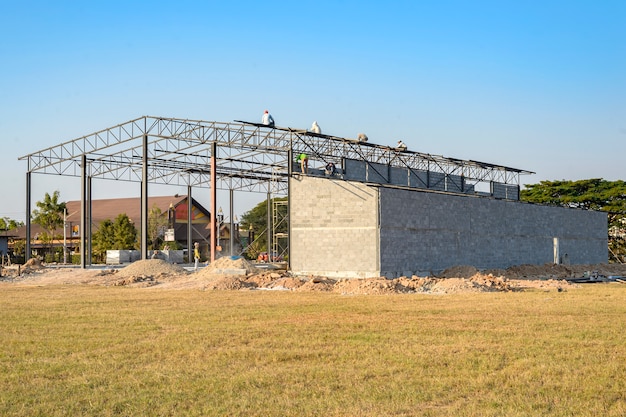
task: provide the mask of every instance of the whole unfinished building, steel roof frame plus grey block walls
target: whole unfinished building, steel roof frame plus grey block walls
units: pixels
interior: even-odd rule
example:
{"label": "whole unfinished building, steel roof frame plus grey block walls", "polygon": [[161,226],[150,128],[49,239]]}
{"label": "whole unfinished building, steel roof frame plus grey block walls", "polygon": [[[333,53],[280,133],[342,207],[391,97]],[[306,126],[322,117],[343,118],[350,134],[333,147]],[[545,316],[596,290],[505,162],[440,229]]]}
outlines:
{"label": "whole unfinished building, steel roof frame plus grey block walls", "polygon": [[[297,161],[301,154],[305,166]],[[608,258],[605,213],[519,201],[520,178],[530,171],[303,129],[144,116],[20,159],[28,164],[28,214],[32,174],[81,178],[85,231],[94,180],[141,184],[144,237],[150,184],[186,186],[190,199],[208,192],[211,213],[217,212],[216,191],[228,190],[229,201],[219,205],[230,207],[231,222],[236,193],[267,193],[268,204],[287,196],[276,203],[288,205],[286,217],[269,207],[267,243],[288,255],[296,274],[394,277],[453,265]],[[287,233],[272,233],[285,222]],[[81,239],[88,247],[90,234]]]}

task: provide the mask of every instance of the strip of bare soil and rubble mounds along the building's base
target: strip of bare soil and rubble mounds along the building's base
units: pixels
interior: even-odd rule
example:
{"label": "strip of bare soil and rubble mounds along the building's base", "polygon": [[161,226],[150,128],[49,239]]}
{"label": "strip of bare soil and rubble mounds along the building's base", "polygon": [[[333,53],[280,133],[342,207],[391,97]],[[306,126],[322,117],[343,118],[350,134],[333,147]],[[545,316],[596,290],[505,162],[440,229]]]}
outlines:
{"label": "strip of bare soil and rubble mounds along the building's base", "polygon": [[[19,271],[19,274],[18,274]],[[578,288],[571,282],[596,273],[602,277],[626,276],[626,265],[519,265],[506,270],[479,271],[473,266],[455,266],[437,276],[396,279],[331,279],[293,276],[287,271],[259,269],[243,258],[223,257],[198,271],[188,271],[159,259],[137,261],[123,268],[80,269],[45,266],[31,259],[25,265],[5,267],[3,285],[101,285],[152,289],[283,290],[340,294],[523,291],[565,291]]]}

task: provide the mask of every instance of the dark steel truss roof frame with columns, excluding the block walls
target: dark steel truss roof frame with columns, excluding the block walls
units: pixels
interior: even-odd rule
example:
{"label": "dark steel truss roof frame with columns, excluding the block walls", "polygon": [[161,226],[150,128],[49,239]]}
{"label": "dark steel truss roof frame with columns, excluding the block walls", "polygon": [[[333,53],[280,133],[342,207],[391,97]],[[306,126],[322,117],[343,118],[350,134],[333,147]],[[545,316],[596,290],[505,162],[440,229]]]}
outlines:
{"label": "dark steel truss roof frame with columns, excluding the block walls", "polygon": [[[474,185],[498,182],[519,186],[521,175],[533,173],[288,127],[142,116],[20,157],[28,165],[27,229],[32,173],[81,177],[87,186],[93,178],[140,182],[146,200],[148,183],[186,185],[189,190],[212,188],[212,193],[228,189],[288,195],[293,155],[299,153],[309,155],[312,166],[323,167],[328,162],[341,166],[344,159],[354,159],[365,161],[374,170],[387,165],[437,172],[462,176]],[[83,191],[84,196],[89,195]],[[145,204],[143,217],[147,218]],[[210,210],[214,213],[215,207]],[[142,252],[147,256],[147,250]]]}

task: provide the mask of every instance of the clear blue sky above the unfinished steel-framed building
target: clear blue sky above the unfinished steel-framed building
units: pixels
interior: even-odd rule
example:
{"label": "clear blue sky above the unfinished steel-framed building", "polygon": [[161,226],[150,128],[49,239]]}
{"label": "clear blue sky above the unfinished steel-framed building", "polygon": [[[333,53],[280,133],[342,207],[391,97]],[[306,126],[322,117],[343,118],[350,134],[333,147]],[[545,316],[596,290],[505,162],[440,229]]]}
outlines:
{"label": "clear blue sky above the unfinished steel-framed building", "polygon": [[[0,64],[0,217],[25,218],[18,157],[143,115],[267,108],[536,172],[523,184],[626,179],[624,0],[3,0]],[[93,198],[129,196],[103,183]],[[78,184],[35,175],[33,206]]]}

